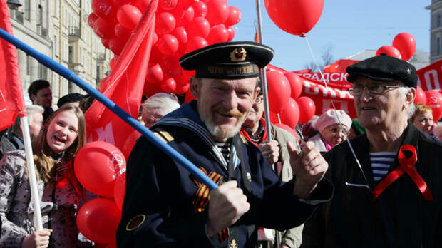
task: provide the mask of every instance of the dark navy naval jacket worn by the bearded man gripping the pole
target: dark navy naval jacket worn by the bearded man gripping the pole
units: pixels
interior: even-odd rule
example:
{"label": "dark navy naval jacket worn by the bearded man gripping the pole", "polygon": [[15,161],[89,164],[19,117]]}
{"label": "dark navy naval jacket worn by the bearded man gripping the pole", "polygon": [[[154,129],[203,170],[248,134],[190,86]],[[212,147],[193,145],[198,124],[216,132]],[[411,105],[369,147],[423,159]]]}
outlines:
{"label": "dark navy naval jacket worn by the bearded man gripping the pole", "polygon": [[[166,115],[151,130],[175,150],[207,173],[215,172],[225,179],[228,172],[217,148],[208,145],[209,133],[196,112],[196,101]],[[212,142],[212,141],[211,141]],[[333,186],[319,182],[311,199],[300,200],[292,194],[293,182],[281,182],[262,153],[245,139],[241,148],[250,181],[245,187],[238,165],[235,178],[247,195],[250,210],[235,224],[236,247],[254,247],[256,229],[289,229],[305,222],[319,203],[332,197]],[[231,154],[232,155],[232,154]],[[178,165],[145,138],[140,138],[130,154],[127,166],[123,213],[117,232],[118,247],[227,247],[217,235],[207,237],[207,209],[196,213],[192,204],[198,187],[190,172]],[[226,180],[224,180],[226,181]]]}

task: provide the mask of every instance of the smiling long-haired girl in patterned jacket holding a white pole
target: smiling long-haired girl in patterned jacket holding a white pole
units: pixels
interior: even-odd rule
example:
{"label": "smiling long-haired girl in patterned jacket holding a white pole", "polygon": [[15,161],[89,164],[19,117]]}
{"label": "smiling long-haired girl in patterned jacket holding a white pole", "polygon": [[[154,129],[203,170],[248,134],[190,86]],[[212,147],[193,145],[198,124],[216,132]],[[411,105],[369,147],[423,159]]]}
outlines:
{"label": "smiling long-haired girl in patterned jacket holding a white pole", "polygon": [[80,108],[63,105],[46,120],[34,155],[43,229],[34,228],[34,206],[24,150],[0,162],[0,247],[76,247],[75,216],[83,189],[73,173],[73,158],[86,143]]}

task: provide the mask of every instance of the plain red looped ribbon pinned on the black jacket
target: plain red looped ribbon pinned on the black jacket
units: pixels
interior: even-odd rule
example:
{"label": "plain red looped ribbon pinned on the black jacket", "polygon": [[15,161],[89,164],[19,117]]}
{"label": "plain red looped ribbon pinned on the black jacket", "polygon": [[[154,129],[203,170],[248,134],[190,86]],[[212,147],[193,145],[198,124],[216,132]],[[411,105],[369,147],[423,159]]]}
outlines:
{"label": "plain red looped ribbon pinned on the black jacket", "polygon": [[[411,156],[407,158],[406,155],[404,155],[404,151],[411,152]],[[398,160],[399,167],[384,177],[384,179],[381,180],[381,182],[379,182],[379,184],[374,188],[374,191],[371,194],[373,201],[376,201],[379,195],[381,195],[381,193],[387,187],[389,187],[389,185],[401,177],[404,172],[411,177],[411,180],[413,180],[413,182],[419,188],[423,195],[423,199],[426,201],[433,200],[433,195],[431,194],[430,189],[426,185],[425,181],[423,181],[421,175],[419,175],[419,173],[413,167],[413,165],[415,165],[418,161],[416,148],[413,145],[402,145],[401,148],[399,148]]]}

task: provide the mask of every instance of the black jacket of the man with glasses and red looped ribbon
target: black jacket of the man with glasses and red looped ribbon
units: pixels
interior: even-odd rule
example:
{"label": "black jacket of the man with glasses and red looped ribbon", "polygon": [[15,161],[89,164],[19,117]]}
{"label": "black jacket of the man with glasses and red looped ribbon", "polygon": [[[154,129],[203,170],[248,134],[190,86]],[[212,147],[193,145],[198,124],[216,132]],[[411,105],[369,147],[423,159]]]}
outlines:
{"label": "black jacket of the man with glasses and red looped ribbon", "polygon": [[[329,162],[326,177],[334,184],[334,197],[304,225],[302,247],[442,247],[442,143],[409,122],[404,132],[402,145],[416,148],[414,168],[434,200],[425,201],[404,173],[373,202],[371,192],[376,185],[369,141],[361,135],[351,144],[369,182],[348,143],[330,150],[325,156]],[[396,156],[389,172],[398,166]]]}

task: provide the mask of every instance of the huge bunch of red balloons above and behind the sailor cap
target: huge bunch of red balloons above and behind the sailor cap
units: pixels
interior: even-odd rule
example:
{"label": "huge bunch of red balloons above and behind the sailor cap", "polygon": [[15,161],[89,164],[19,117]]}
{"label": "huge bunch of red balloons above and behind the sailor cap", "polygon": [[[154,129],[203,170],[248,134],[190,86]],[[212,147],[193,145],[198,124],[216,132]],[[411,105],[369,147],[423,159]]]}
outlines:
{"label": "huge bunch of red balloons above and behind the sailor cap", "polygon": [[[88,24],[118,56],[148,4],[150,0],[93,0]],[[227,0],[159,0],[143,95],[186,93],[192,71],[183,71],[178,59],[212,43],[231,41],[232,25],[240,19],[240,9],[228,6]]]}

